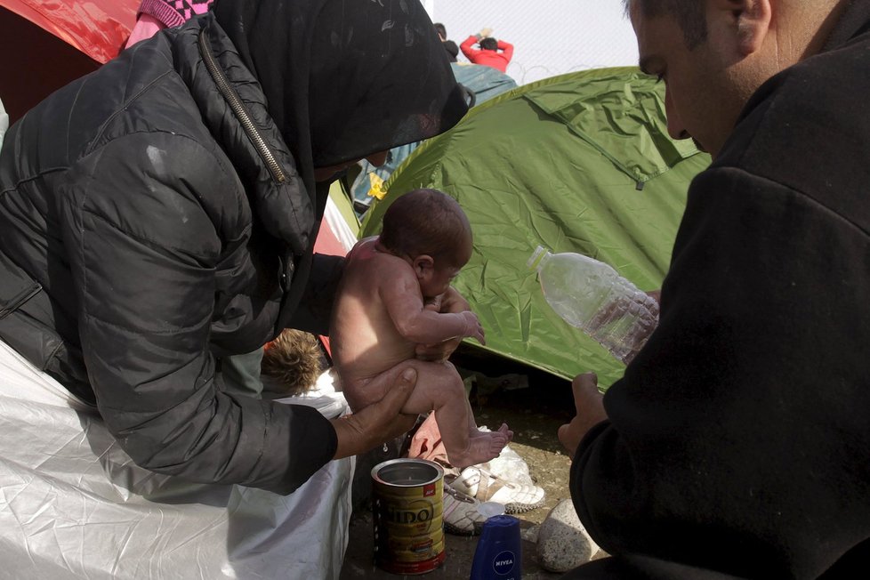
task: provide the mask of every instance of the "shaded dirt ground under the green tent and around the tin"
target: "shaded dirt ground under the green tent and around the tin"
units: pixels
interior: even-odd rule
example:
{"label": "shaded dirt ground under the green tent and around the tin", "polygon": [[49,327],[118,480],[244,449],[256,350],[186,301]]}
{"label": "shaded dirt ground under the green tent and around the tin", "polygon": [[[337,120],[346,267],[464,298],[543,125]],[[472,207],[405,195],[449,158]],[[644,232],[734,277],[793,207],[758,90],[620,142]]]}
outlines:
{"label": "shaded dirt ground under the green tent and around the tin", "polygon": [[[570,497],[568,492],[568,466],[570,460],[556,437],[556,430],[567,423],[574,415],[574,401],[571,385],[567,380],[544,373],[534,368],[512,364],[500,359],[493,361],[473,350],[457,350],[452,361],[460,367],[463,375],[471,370],[487,377],[508,376],[513,380],[505,381],[509,386],[524,383],[528,387],[504,390],[496,387],[494,392],[471,391],[471,407],[479,425],[495,428],[507,423],[514,431],[511,447],[528,463],[529,473],[536,485],[544,487],[546,501],[544,506],[531,512],[516,514],[523,533],[522,577],[524,580],[550,580],[561,575],[548,572],[538,564],[536,544],[531,541],[536,536],[536,527],[544,521],[556,503]],[[516,379],[520,378],[519,381]],[[487,386],[486,391],[490,391]],[[483,391],[483,390],[481,390]],[[398,456],[398,451],[388,449],[361,457],[358,461],[358,477],[355,484],[356,509],[350,520],[350,543],[344,557],[341,578],[399,578],[375,567],[373,561],[373,523],[372,513],[367,504],[365,488],[371,468],[384,459]],[[365,477],[363,477],[365,476]],[[362,479],[360,479],[362,478]],[[479,536],[454,536],[447,534],[445,539],[446,559],[444,564],[423,576],[427,580],[469,578],[471,562]]]}

